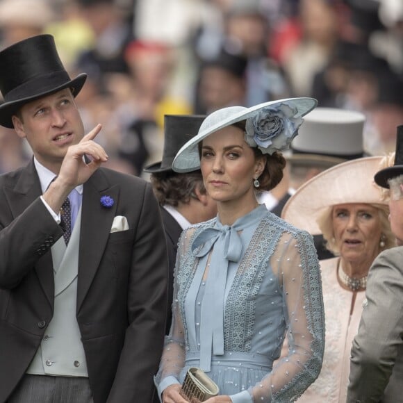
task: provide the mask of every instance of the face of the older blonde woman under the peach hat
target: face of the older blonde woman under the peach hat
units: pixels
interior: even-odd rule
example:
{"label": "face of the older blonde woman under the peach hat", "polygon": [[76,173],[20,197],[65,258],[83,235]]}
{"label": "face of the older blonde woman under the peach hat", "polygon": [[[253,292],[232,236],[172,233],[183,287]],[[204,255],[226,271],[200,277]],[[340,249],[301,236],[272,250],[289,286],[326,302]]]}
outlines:
{"label": "face of the older blonde woman under the peach hat", "polygon": [[337,204],[332,213],[333,231],[340,256],[350,263],[368,263],[379,253],[381,219],[370,204]]}

